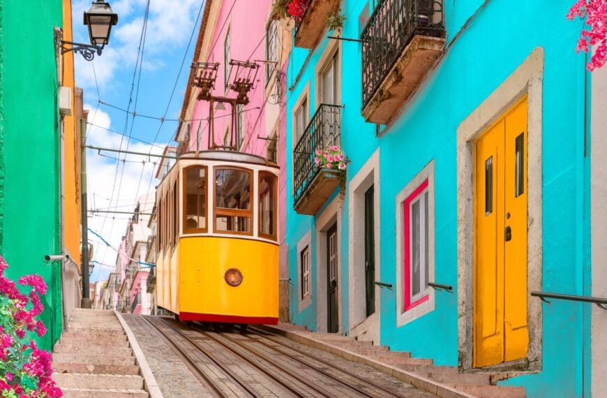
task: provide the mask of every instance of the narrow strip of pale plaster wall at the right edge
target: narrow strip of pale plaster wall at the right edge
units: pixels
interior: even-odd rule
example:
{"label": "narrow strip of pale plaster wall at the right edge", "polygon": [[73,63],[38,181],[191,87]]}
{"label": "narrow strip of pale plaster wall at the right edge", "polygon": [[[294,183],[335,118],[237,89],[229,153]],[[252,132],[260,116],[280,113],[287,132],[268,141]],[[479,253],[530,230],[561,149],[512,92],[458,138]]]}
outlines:
{"label": "narrow strip of pale plaster wall at the right edge", "polygon": [[[607,297],[607,68],[592,72],[590,131],[592,165],[592,296]],[[607,311],[592,305],[592,397],[607,396]]]}

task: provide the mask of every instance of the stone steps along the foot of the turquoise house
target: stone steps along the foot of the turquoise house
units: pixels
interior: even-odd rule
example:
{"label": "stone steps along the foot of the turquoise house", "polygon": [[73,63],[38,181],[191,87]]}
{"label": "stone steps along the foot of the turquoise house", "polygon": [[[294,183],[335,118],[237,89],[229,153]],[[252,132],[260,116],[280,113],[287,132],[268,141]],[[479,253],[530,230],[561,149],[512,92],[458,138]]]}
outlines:
{"label": "stone steps along the foot of the turquoise house", "polygon": [[[370,366],[388,371],[392,376],[397,376],[394,369],[402,370],[410,376],[420,378],[420,383],[412,383],[416,387],[431,390],[440,397],[454,397],[453,390],[462,393],[460,397],[480,398],[523,398],[525,388],[507,387],[496,385],[497,381],[517,376],[516,372],[481,372],[460,373],[457,367],[437,366],[431,359],[411,358],[411,353],[400,351],[389,351],[388,347],[375,346],[371,341],[359,341],[354,337],[345,337],[340,334],[309,332],[296,325],[280,324],[275,331],[295,340],[309,344],[313,342],[316,348],[324,349],[338,354],[349,360],[365,363]],[[299,337],[299,338],[297,338]],[[308,340],[307,342],[305,340]],[[341,355],[339,351],[343,351]],[[387,365],[382,366],[382,365]],[[407,375],[401,375],[404,381],[412,382]],[[426,383],[426,381],[432,382]],[[440,385],[441,388],[436,388]],[[446,388],[444,388],[446,387]]]}

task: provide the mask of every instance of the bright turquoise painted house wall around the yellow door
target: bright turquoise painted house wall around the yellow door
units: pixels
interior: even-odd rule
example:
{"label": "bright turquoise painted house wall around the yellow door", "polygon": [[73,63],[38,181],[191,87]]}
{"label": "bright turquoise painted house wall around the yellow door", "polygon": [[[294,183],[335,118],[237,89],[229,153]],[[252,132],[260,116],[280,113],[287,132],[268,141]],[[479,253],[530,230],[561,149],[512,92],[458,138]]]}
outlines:
{"label": "bright turquoise painted house wall around the yellow door", "polygon": [[[343,37],[359,36],[359,15],[366,1],[343,1],[347,16]],[[543,289],[583,295],[590,287],[590,230],[587,226],[588,158],[584,156],[587,73],[583,54],[574,48],[582,29],[565,19],[571,1],[444,1],[449,51],[413,100],[382,138],[375,125],[361,117],[361,46],[342,45],[341,98],[343,148],[352,163],[347,178],[356,175],[375,149],[380,148],[381,281],[396,286],[395,198],[430,161],[435,161],[435,275],[438,283],[454,286],[454,294],[437,293],[435,310],[403,327],[396,327],[396,293],[380,289],[381,342],[393,350],[435,363],[458,364],[457,306],[457,182],[456,129],[536,47],[545,54],[543,82]],[[471,19],[470,19],[471,18]],[[454,40],[455,38],[455,40]],[[452,43],[451,43],[452,42]],[[315,92],[314,68],[327,45],[323,39],[304,71],[308,50],[295,48],[290,59],[287,93],[287,147],[292,145],[291,110],[302,89]],[[301,78],[295,80],[301,72]],[[310,98],[310,117],[316,109]],[[531,160],[530,160],[531,161]],[[292,154],[287,151],[287,192],[292,193]],[[341,281],[348,280],[348,228],[345,198],[341,220]],[[315,290],[312,304],[297,308],[297,242],[310,230],[315,217],[294,213],[287,197],[287,244],[293,281],[290,314],[294,323],[317,327]],[[312,233],[315,253],[315,233]],[[313,281],[316,259],[313,256]],[[347,318],[347,283],[342,289],[342,327]],[[538,300],[529,297],[529,300]],[[530,397],[589,395],[590,318],[588,304],[554,301],[543,310],[543,370],[504,384],[523,385]],[[586,355],[584,355],[586,353]],[[583,370],[584,369],[584,370]]]}

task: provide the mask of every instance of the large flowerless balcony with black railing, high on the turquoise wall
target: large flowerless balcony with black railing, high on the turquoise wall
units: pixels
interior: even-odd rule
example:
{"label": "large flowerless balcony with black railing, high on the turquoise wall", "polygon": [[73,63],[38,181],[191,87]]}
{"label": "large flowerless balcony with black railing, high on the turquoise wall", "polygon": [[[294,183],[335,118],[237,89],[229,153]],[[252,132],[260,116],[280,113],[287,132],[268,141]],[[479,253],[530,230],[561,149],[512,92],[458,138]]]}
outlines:
{"label": "large flowerless balcony with black railing, high on the turquoise wall", "polygon": [[388,124],[444,49],[442,0],[383,0],[361,34],[362,115]]}

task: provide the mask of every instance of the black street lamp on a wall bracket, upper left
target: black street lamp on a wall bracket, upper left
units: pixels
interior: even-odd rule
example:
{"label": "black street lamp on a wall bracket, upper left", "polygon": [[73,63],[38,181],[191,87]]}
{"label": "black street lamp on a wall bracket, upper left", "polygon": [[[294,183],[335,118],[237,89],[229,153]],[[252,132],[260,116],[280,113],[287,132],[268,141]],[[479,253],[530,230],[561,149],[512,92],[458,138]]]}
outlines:
{"label": "black street lamp on a wall bracket, upper left", "polygon": [[[95,53],[101,55],[103,47],[110,43],[110,32],[112,26],[118,23],[118,14],[112,11],[110,4],[103,0],[93,1],[91,9],[84,12],[84,24],[89,27],[89,39],[91,44],[72,43],[61,40],[61,54],[75,51],[80,52],[87,61],[95,58]],[[64,45],[71,45],[66,48]]]}

